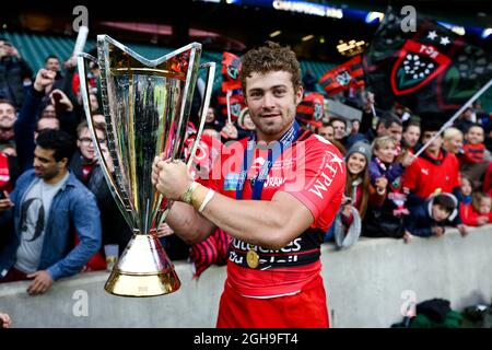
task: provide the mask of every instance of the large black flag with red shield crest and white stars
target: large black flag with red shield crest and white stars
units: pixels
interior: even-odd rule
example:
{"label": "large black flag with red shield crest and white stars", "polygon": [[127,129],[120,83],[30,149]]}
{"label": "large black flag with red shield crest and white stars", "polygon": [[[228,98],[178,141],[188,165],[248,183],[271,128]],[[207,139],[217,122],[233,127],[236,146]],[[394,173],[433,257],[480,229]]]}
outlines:
{"label": "large black flag with red shield crest and white stars", "polygon": [[379,108],[398,102],[444,124],[492,78],[492,57],[421,15],[417,31],[406,33],[402,19],[391,8],[386,12],[364,52],[366,84]]}

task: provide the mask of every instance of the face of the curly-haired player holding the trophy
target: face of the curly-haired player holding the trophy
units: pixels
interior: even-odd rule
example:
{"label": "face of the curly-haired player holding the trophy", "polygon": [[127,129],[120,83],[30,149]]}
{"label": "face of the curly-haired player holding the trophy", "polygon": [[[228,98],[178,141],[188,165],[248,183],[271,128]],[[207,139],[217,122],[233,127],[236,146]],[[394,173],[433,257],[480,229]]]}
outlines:
{"label": "face of the curly-haired player holding the trophy", "polygon": [[278,140],[292,125],[303,88],[294,90],[291,78],[286,71],[254,72],[246,78],[246,102],[259,140]]}

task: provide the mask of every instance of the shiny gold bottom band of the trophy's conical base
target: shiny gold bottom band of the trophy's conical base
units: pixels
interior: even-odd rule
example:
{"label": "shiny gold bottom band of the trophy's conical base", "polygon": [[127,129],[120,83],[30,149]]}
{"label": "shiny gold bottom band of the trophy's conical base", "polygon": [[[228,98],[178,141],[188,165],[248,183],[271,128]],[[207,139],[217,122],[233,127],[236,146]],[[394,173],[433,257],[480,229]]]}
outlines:
{"label": "shiny gold bottom band of the trophy's conical base", "polygon": [[181,283],[174,268],[159,273],[128,273],[114,268],[104,289],[119,296],[157,296],[169,294],[179,289]]}

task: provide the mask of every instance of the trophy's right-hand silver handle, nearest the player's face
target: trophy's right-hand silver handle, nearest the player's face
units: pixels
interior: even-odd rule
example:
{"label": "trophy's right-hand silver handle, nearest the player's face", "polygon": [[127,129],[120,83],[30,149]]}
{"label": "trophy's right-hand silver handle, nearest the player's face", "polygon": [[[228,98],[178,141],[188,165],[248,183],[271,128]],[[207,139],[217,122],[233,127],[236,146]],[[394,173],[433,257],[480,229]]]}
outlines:
{"label": "trophy's right-hand silver handle, nearest the player's face", "polygon": [[[207,69],[207,84],[203,94],[203,102],[200,107],[201,115],[200,115],[200,125],[197,131],[197,138],[195,139],[194,145],[191,147],[191,152],[189,154],[189,159],[186,164],[188,170],[191,167],[194,163],[195,153],[197,152],[198,144],[200,143],[201,133],[203,132],[204,121],[207,119],[207,110],[209,109],[210,98],[212,96],[213,79],[215,78],[215,62],[202,63],[200,65],[200,69]],[[159,202],[161,202],[163,196],[159,195]],[[171,207],[173,207],[173,201],[169,201],[167,208],[163,210],[160,215],[157,213],[157,222],[155,229],[157,229],[164,222],[164,220],[166,220]]]}

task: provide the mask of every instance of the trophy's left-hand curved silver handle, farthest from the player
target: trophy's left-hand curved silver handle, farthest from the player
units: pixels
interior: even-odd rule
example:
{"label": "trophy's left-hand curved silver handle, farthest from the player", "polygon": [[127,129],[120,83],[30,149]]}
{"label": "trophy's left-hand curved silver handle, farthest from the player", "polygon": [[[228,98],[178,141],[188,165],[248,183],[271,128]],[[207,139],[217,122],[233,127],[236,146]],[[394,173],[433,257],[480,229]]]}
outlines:
{"label": "trophy's left-hand curved silver handle, farthest from the player", "polygon": [[[97,142],[97,135],[95,132],[94,124],[93,124],[93,114],[91,112],[91,104],[90,104],[90,97],[89,97],[89,82],[87,82],[87,74],[86,74],[86,62],[92,61],[96,63],[99,67],[99,63],[97,62],[97,59],[89,54],[80,52],[77,57],[77,63],[79,69],[79,80],[80,80],[80,92],[82,95],[82,101],[84,105],[84,112],[85,112],[85,119],[87,120],[89,130],[92,136],[93,145],[97,152],[98,161],[101,162],[101,170],[103,172],[104,177],[106,178],[106,183],[109,187],[109,191],[112,192],[113,198],[116,201],[116,205],[118,206],[118,209],[122,213],[125,221],[130,225],[130,228],[134,228],[133,218],[129,214],[129,207],[125,205],[124,197],[121,196],[121,192],[119,191],[119,187],[113,177],[113,175],[108,172],[108,166],[106,164],[106,160],[103,156],[103,152],[101,150],[99,143]],[[107,132],[107,130],[106,130]],[[109,143],[110,140],[108,139],[107,142]],[[108,144],[108,150],[109,148]],[[113,158],[113,154],[112,154]]]}

